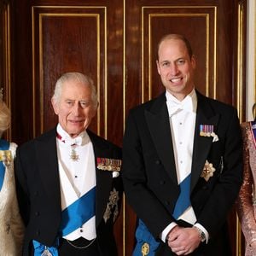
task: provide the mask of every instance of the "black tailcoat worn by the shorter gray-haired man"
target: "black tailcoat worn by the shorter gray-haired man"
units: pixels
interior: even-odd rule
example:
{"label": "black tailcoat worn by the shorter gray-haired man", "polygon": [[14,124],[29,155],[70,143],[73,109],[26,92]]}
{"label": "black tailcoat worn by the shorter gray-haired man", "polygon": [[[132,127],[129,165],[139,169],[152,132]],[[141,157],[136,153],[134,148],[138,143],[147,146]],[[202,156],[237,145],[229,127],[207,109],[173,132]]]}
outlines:
{"label": "black tailcoat worn by the shorter gray-haired man", "polygon": [[[96,160],[121,159],[119,147],[90,131],[87,132]],[[20,213],[26,224],[23,255],[29,255],[32,240],[52,246],[61,223],[61,189],[55,129],[17,148],[15,177]],[[105,223],[103,220],[113,189],[119,192],[120,207],[123,192],[120,176],[113,177],[112,172],[96,168],[96,236],[101,255],[104,256],[117,255],[113,237],[114,207],[108,221]]]}

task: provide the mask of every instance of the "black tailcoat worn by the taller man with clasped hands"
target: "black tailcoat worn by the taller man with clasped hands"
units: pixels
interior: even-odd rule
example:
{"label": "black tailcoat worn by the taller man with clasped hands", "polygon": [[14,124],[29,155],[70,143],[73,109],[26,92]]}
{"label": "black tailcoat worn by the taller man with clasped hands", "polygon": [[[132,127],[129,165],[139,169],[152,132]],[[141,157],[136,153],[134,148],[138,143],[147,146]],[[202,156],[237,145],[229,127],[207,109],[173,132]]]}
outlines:
{"label": "black tailcoat worn by the taller man with clasped hands", "polygon": [[[235,108],[196,94],[190,201],[210,239],[193,255],[227,256],[226,218],[242,180],[239,119]],[[201,136],[200,125],[214,125],[218,142]],[[216,169],[208,181],[201,177],[206,160]],[[160,233],[175,221],[172,212],[180,191],[165,93],[131,110],[125,127],[122,177],[127,201],[159,240]],[[163,242],[159,252],[172,255]]]}

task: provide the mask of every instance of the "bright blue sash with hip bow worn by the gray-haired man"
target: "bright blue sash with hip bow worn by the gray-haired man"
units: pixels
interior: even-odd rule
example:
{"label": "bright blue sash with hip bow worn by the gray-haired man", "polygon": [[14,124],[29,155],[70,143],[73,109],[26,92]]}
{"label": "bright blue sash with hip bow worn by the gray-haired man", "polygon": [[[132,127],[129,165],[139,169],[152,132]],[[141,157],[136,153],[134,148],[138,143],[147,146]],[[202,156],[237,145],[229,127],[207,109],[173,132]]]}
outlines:
{"label": "bright blue sash with hip bow worn by the gray-haired man", "polygon": [[[90,189],[87,193],[81,196],[77,201],[74,201],[69,207],[61,212],[61,226],[59,236],[67,236],[74,230],[77,230],[90,218],[95,216],[96,212],[96,187]],[[53,256],[58,256],[59,239],[56,240],[53,247],[45,247],[38,241],[33,240],[34,256],[41,256],[44,250],[49,250]]]}

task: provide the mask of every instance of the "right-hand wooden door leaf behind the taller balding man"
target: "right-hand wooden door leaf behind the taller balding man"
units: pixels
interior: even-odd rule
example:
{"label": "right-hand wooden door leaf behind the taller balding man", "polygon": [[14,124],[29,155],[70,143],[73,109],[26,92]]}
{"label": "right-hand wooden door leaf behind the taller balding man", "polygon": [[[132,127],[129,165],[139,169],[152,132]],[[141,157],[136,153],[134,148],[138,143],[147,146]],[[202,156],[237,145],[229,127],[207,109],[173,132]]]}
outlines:
{"label": "right-hand wooden door leaf behind the taller balding man", "polygon": [[[170,32],[185,35],[195,50],[195,88],[237,107],[236,64],[231,57],[237,50],[237,10],[236,1],[126,1],[126,34],[130,37],[125,40],[125,116],[134,105],[164,90],[156,70],[156,49],[159,39]],[[127,204],[125,210],[125,253],[131,255],[131,224],[136,225],[136,218]],[[236,255],[236,211],[230,212],[229,221]]]}

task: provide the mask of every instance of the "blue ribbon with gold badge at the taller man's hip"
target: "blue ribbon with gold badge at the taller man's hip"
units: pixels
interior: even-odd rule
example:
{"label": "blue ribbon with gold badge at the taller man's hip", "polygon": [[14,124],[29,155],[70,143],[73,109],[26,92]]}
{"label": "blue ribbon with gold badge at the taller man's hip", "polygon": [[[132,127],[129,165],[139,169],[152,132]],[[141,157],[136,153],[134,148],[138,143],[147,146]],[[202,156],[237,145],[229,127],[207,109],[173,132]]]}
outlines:
{"label": "blue ribbon with gold badge at the taller man's hip", "polygon": [[132,253],[132,256],[142,256],[143,250],[148,254],[144,253],[147,256],[154,256],[155,251],[159,247],[160,242],[154,239],[154,236],[149,232],[146,225],[143,223],[141,219],[139,219],[139,223],[136,230],[136,239],[137,244]]}

